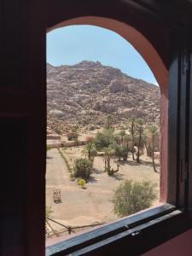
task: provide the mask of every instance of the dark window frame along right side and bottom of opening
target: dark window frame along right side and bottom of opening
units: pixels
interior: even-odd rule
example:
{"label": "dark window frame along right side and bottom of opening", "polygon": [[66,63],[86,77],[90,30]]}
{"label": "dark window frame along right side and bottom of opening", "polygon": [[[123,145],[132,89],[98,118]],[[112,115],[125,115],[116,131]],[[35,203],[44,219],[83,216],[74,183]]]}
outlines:
{"label": "dark window frame along right side and bottom of opening", "polygon": [[[46,247],[49,255],[107,255],[129,250],[131,255],[147,252],[192,228],[189,199],[189,160],[192,151],[192,120],[189,93],[191,47],[188,29],[172,31],[172,61],[168,84],[168,172],[167,203],[85,232]],[[182,39],[181,39],[182,38]],[[176,44],[177,42],[177,44]],[[158,233],[158,236],[157,236]],[[138,247],[139,244],[139,247]]]}

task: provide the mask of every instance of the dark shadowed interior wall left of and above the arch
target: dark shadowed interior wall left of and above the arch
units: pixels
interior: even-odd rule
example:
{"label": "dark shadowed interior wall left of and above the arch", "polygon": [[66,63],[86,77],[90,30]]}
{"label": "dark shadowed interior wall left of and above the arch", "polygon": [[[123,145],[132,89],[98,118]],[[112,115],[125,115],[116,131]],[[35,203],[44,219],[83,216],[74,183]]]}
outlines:
{"label": "dark shadowed interior wall left of and above the arch", "polygon": [[166,68],[170,40],[159,15],[128,0],[1,0],[0,14],[0,255],[43,256],[46,27],[82,15],[120,20],[148,38]]}

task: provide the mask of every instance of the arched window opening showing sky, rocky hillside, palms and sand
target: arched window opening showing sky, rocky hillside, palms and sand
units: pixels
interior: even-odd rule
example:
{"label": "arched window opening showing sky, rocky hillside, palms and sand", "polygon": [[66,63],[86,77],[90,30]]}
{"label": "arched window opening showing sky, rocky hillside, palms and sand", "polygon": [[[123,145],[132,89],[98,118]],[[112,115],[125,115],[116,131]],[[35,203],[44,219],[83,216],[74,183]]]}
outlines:
{"label": "arched window opening showing sky, rocky hillside, palms and sand", "polygon": [[142,57],[98,26],[47,42],[47,238],[160,205],[160,89]]}

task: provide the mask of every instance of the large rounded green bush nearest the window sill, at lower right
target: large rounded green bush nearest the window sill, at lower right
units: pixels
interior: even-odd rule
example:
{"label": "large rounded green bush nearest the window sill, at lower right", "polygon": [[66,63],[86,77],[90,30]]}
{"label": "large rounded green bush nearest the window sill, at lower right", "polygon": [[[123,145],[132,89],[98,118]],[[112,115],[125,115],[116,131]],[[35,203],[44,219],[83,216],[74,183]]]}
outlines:
{"label": "large rounded green bush nearest the window sill, at lower right", "polygon": [[156,184],[149,180],[125,180],[114,190],[113,212],[118,217],[125,217],[151,207],[157,197],[155,186]]}

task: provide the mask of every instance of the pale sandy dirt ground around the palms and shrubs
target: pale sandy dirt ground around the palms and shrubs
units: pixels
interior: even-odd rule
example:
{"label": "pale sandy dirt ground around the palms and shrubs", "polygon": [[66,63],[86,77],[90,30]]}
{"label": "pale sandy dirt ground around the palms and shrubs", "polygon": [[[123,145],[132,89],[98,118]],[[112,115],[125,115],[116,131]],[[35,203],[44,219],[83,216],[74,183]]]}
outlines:
{"label": "pale sandy dirt ground around the palms and shrubs", "polygon": [[[73,166],[73,160],[81,156],[81,147],[65,149],[68,162]],[[67,225],[86,225],[96,222],[105,222],[117,219],[113,213],[111,198],[113,190],[125,179],[141,180],[145,177],[156,183],[159,194],[160,174],[155,173],[151,159],[142,156],[142,163],[137,164],[131,160],[122,163],[113,177],[109,177],[103,172],[102,157],[97,156],[94,160],[95,172],[92,173],[86,189],[81,189],[76,181],[69,178],[70,172],[67,171],[65,161],[61,158],[56,148],[48,151],[47,171],[46,171],[46,205],[52,207],[54,211],[51,217],[62,224]],[[116,168],[116,164],[113,164]],[[61,189],[61,203],[55,204],[53,201],[54,189]],[[159,200],[154,201],[154,205]]]}

